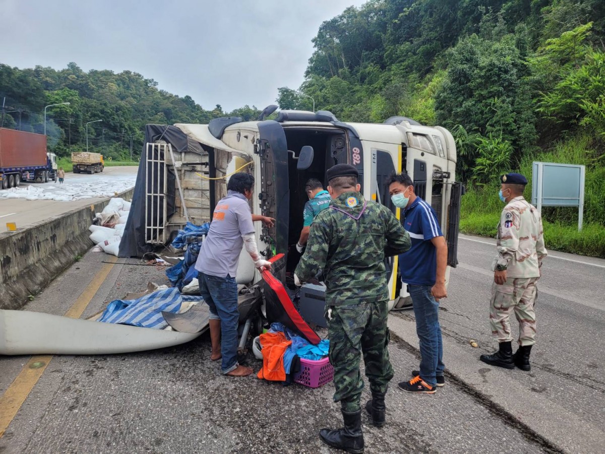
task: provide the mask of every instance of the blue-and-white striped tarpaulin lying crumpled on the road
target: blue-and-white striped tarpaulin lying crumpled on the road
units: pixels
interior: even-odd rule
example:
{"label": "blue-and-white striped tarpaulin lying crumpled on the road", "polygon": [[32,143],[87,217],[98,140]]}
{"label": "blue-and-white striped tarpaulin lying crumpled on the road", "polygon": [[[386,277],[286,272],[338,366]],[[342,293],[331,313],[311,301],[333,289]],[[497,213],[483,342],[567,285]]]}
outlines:
{"label": "blue-and-white striped tarpaulin lying crumpled on the road", "polygon": [[182,302],[178,288],[174,287],[154,291],[137,299],[117,299],[107,305],[99,322],[163,329],[168,323],[164,320],[162,311],[177,313]]}

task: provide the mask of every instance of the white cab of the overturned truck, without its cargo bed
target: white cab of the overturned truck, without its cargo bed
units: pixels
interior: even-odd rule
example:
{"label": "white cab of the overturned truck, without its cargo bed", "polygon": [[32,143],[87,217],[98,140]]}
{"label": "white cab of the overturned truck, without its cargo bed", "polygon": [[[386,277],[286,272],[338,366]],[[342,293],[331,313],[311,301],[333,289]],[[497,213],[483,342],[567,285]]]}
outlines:
{"label": "white cab of the overturned truck, without its cargo bed", "polygon": [[[244,166],[241,171],[255,177],[252,213],[276,219],[271,228],[260,222],[255,224],[259,248],[267,259],[284,254],[285,265],[276,267],[276,277],[286,286],[292,284],[293,271],[301,257],[295,244],[307,202],[306,181],[317,178],[327,186],[326,170],[339,163],[356,166],[364,197],[384,204],[398,219],[401,213],[391,203],[385,180],[392,172],[406,170],[414,181],[416,194],[436,211],[448,242],[446,278],[450,267],[457,264],[462,186],[455,181],[454,138],[444,128],[423,126],[404,117],[389,118],[382,124],[343,123],[327,111],[281,111],[275,120],[243,122],[241,118],[218,118],[209,125],[174,126],[212,151],[211,167],[235,157],[230,168]],[[211,180],[208,184],[212,213],[226,193],[226,180]],[[409,294],[399,277],[397,257],[386,259],[385,266],[390,308],[401,308],[409,303]],[[241,284],[260,279],[244,252],[237,274]]]}

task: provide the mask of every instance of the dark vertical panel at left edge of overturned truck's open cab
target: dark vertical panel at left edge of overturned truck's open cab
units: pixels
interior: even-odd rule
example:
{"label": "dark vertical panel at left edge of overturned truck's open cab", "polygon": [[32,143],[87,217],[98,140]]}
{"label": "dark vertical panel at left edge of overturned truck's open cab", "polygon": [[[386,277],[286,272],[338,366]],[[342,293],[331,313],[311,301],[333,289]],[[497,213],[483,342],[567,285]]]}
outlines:
{"label": "dark vertical panel at left edge of overturned truck's open cab", "polygon": [[[258,138],[254,152],[260,160],[261,190],[258,199],[261,213],[263,216],[275,218],[276,221],[275,226],[270,229],[263,225],[260,240],[266,247],[261,254],[265,259],[280,253],[287,255],[290,216],[288,147],[286,134],[280,123],[273,120],[258,123]],[[276,277],[281,282],[285,282],[285,268],[282,274],[283,276]]]}

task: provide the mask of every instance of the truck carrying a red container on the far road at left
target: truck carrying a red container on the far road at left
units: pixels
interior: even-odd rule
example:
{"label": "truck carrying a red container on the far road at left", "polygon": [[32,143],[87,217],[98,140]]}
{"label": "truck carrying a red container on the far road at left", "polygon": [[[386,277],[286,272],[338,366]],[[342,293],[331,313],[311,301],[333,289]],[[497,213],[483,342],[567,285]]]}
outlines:
{"label": "truck carrying a red container on the far road at left", "polygon": [[2,189],[21,181],[57,181],[57,156],[46,150],[46,136],[0,128],[0,183]]}

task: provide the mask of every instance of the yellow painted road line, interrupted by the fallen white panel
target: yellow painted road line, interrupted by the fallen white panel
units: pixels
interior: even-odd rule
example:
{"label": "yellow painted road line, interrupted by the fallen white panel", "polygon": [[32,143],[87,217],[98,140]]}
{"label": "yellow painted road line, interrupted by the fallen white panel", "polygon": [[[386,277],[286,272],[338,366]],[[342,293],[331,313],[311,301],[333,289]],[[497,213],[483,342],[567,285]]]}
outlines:
{"label": "yellow painted road line, interrupted by the fallen white panel", "polygon": [[[113,265],[117,261],[116,256],[110,256],[111,264],[103,265],[103,268],[95,274],[93,280],[84,289],[82,294],[78,297],[76,302],[71,306],[70,310],[67,311],[65,317],[72,319],[79,319],[82,313],[86,310],[88,304],[93,299],[93,296],[103,284],[106,277],[113,268]],[[15,415],[27,399],[31,390],[36,386],[42,374],[44,374],[50,360],[53,355],[35,355],[27,362],[19,375],[13,380],[13,383],[8,386],[8,389],[0,397],[0,438],[4,436],[8,425],[13,421]]]}

